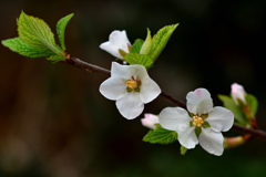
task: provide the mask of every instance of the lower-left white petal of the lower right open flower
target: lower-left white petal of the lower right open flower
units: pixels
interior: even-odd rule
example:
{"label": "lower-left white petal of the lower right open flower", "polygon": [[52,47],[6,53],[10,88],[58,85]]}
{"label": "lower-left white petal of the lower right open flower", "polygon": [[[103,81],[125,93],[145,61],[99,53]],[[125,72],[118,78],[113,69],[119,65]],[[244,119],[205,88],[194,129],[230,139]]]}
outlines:
{"label": "lower-left white petal of the lower right open flower", "polygon": [[188,125],[180,125],[177,128],[178,142],[186,148],[194,148],[198,144],[198,139],[195,133],[195,126],[190,127]]}

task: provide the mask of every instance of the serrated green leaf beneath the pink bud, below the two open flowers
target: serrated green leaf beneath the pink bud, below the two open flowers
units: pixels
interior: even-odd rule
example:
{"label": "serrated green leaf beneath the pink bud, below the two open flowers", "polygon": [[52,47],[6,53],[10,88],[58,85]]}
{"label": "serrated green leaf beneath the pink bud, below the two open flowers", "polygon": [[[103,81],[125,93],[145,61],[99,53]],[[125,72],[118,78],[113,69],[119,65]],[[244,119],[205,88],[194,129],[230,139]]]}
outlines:
{"label": "serrated green leaf beneath the pink bud, below the two open flowers", "polygon": [[177,140],[177,133],[175,131],[164,129],[161,125],[154,131],[150,131],[144,137],[143,142],[152,144],[171,144]]}

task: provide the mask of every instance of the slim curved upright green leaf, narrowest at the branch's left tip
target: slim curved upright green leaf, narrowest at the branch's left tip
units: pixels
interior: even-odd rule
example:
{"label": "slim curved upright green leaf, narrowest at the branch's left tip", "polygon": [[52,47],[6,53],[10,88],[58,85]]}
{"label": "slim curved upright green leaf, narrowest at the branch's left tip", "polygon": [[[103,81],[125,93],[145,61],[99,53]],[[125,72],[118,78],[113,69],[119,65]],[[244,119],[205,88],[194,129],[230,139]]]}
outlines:
{"label": "slim curved upright green leaf, narrowest at the branch's left tip", "polygon": [[61,48],[63,50],[65,50],[65,44],[64,44],[64,30],[66,24],[69,23],[70,19],[74,15],[74,13],[71,13],[64,18],[62,18],[61,20],[59,20],[58,24],[57,24],[57,32],[58,32],[58,37],[59,37],[59,41],[61,43]]}

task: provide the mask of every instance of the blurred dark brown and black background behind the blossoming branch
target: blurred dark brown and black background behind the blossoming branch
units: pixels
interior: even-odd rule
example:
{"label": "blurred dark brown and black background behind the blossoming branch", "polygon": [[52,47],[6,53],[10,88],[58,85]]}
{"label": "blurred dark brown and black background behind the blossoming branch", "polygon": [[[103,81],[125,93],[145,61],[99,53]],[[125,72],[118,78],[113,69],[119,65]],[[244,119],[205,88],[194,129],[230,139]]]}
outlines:
{"label": "blurred dark brown and black background behind the blossoming branch", "polygon": [[[237,82],[259,102],[257,121],[266,129],[265,0],[0,0],[0,40],[14,38],[21,11],[43,19],[55,33],[74,13],[65,44],[72,56],[110,69],[113,56],[99,45],[113,30],[130,41],[180,23],[150,70],[161,88],[185,101],[206,87],[215,105]],[[126,121],[99,93],[105,75],[63,63],[28,59],[0,45],[1,177],[264,177],[266,143],[254,139],[216,157],[201,146],[180,155],[180,144],[142,142],[147,128]],[[145,113],[174,106],[158,97]],[[226,136],[238,135],[231,131]]]}

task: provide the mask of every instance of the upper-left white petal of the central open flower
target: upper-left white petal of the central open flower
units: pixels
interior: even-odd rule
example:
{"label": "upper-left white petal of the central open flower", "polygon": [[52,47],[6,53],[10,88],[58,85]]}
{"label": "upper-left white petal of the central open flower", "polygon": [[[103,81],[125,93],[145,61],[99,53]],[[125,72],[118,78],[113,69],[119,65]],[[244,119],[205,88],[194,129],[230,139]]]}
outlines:
{"label": "upper-left white petal of the central open flower", "polygon": [[112,77],[122,77],[125,80],[131,80],[131,73],[130,73],[130,67],[132,65],[122,65],[119,64],[117,62],[112,62],[112,66],[111,66],[111,76]]}

